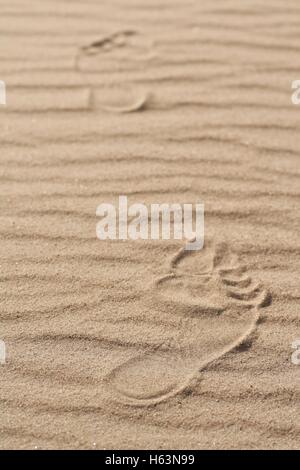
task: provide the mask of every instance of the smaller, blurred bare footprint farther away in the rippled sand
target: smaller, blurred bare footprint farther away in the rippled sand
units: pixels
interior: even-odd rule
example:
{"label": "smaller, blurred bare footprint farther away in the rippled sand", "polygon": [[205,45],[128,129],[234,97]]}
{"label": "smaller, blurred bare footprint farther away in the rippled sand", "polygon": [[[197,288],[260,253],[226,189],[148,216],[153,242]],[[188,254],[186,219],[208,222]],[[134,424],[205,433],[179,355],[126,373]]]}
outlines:
{"label": "smaller, blurred bare footprint farther away in the rippled sand", "polygon": [[128,76],[133,70],[143,72],[155,56],[153,44],[133,30],[119,31],[81,47],[76,69],[90,86],[92,108],[115,114],[144,110],[151,94],[131,85]]}

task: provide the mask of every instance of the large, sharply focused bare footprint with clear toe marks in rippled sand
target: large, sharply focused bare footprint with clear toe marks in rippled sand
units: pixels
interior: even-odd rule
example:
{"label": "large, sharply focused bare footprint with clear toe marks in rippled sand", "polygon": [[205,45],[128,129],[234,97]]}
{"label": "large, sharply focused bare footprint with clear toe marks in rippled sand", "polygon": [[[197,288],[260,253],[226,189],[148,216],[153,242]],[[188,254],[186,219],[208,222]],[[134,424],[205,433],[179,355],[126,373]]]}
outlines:
{"label": "large, sharply focused bare footprint with clear toe marks in rippled sand", "polygon": [[169,273],[147,294],[151,307],[176,316],[178,335],[155,351],[129,360],[106,378],[113,396],[151,405],[191,387],[212,361],[242,345],[270,296],[246,273],[226,244],[181,249]]}

